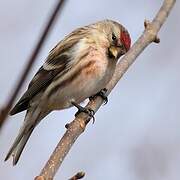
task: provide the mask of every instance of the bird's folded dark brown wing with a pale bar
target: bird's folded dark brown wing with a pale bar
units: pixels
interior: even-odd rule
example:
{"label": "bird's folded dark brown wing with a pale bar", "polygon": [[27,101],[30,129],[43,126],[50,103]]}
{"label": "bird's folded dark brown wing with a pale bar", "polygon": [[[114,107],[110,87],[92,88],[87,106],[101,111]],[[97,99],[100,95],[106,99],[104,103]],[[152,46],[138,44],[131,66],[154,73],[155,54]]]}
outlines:
{"label": "bird's folded dark brown wing with a pale bar", "polygon": [[71,69],[75,44],[83,38],[83,35],[83,29],[77,29],[50,51],[47,60],[31,80],[27,91],[10,111],[10,115],[26,110],[29,106],[29,101],[46,89],[55,76],[62,75]]}

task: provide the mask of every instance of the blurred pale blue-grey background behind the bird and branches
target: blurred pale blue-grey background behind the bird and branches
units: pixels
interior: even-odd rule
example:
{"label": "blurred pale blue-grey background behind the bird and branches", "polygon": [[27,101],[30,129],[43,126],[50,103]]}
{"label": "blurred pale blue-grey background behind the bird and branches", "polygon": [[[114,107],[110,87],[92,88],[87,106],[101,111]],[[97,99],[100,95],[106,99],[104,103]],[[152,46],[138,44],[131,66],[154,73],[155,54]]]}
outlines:
{"label": "blurred pale blue-grey background behind the bird and branches", "polygon": [[[46,41],[28,82],[49,50],[79,26],[113,19],[129,30],[133,42],[152,20],[163,1],[68,1]],[[55,0],[0,0],[0,106],[6,102]],[[180,3],[177,1],[151,44],[137,58],[78,139],[55,179],[85,171],[84,179],[179,180],[180,177]],[[21,92],[22,94],[22,92]],[[4,157],[24,119],[9,117],[0,132],[0,179],[30,180],[41,168],[73,119],[75,108],[53,112],[32,134],[17,166]]]}

